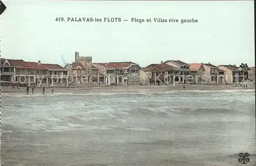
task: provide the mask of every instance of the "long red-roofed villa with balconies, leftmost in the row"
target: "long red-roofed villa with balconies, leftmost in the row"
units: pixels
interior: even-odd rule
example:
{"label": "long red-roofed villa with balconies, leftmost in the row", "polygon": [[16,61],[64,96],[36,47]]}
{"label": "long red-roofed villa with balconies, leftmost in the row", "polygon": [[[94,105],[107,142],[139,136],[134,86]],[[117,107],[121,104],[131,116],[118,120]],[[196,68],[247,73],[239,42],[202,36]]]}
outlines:
{"label": "long red-roofed villa with balconies, leftmost in the row", "polygon": [[57,64],[1,59],[1,80],[35,86],[63,86],[68,70]]}

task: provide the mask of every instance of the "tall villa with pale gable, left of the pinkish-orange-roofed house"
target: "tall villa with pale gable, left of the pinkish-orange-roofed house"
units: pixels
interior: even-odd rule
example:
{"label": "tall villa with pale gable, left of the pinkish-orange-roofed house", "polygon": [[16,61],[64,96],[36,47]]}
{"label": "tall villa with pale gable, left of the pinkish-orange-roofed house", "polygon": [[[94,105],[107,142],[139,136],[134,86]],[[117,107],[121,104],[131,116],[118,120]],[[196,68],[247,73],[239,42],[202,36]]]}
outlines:
{"label": "tall villa with pale gable, left of the pinkish-orange-roofed house", "polygon": [[182,61],[174,61],[174,60],[168,60],[165,62],[162,62],[162,64],[167,64],[169,66],[172,66],[175,68],[174,75],[175,75],[175,83],[178,84],[180,82],[181,84],[187,84],[187,80],[190,79],[189,72],[191,71],[189,69],[189,64],[184,63]]}

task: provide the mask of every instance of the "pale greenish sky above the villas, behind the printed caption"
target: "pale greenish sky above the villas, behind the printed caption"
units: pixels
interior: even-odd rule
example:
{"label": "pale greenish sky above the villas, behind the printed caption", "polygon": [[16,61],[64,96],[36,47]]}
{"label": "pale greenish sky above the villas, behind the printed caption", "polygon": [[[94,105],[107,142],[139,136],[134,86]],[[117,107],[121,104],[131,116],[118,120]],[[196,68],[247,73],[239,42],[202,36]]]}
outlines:
{"label": "pale greenish sky above the villas, behind the printed caption", "polygon": [[[79,51],[94,63],[131,61],[141,67],[166,60],[216,66],[255,63],[253,1],[3,2],[7,9],[0,17],[1,58],[63,66],[61,55],[72,63]],[[102,22],[71,22],[68,17],[97,17]],[[119,17],[121,22],[103,22],[104,17]],[[150,18],[152,22],[146,22]],[[198,22],[181,23],[192,18]]]}

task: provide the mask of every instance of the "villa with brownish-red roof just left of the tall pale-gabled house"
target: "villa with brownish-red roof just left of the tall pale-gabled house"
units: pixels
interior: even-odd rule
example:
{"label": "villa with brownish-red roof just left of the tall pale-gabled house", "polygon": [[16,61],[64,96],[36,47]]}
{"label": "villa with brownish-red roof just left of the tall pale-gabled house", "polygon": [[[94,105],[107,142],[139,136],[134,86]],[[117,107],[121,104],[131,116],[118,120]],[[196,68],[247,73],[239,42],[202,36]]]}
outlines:
{"label": "villa with brownish-red roof just left of the tall pale-gabled house", "polygon": [[[141,70],[141,84],[148,84],[147,81],[144,82],[143,75],[149,76],[148,81],[150,85],[167,85],[173,82],[173,66],[167,64],[150,64]],[[147,79],[147,77],[145,77],[145,79]]]}

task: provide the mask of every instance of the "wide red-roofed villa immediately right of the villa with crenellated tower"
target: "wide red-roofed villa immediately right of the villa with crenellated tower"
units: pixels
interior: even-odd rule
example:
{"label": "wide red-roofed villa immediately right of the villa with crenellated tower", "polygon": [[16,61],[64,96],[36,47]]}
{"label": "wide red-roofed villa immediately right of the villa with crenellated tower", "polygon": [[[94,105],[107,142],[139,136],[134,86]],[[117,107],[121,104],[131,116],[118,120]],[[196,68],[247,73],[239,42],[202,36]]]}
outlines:
{"label": "wide red-roofed villa immediately right of the villa with crenellated tower", "polygon": [[94,63],[103,85],[139,85],[141,67],[133,62]]}

